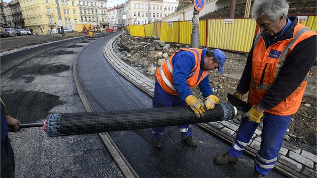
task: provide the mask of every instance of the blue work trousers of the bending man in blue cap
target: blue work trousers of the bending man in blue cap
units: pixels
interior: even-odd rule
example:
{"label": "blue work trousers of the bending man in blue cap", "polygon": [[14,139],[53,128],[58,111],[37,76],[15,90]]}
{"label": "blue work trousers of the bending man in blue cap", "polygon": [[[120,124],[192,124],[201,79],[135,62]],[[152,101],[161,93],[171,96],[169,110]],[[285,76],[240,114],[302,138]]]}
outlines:
{"label": "blue work trousers of the bending man in blue cap", "polygon": [[[160,83],[155,78],[153,108],[187,106],[187,103],[182,101],[179,96],[166,93],[161,87]],[[189,124],[178,126],[182,136],[191,137],[192,129]],[[152,128],[154,138],[162,138],[165,127]]]}

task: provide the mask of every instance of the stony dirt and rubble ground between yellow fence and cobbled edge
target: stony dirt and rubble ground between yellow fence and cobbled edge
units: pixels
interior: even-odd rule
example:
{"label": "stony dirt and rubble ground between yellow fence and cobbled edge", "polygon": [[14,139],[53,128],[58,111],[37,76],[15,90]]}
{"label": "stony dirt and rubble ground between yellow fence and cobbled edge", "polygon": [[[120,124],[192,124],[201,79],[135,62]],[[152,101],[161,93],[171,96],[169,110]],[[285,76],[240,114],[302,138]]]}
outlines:
{"label": "stony dirt and rubble ground between yellow fence and cobbled edge", "polygon": [[[150,75],[148,72],[148,68],[151,66],[159,67],[157,65],[157,61],[161,57],[155,57],[157,52],[167,53],[171,56],[175,51],[180,49],[181,47],[189,47],[188,45],[182,44],[170,44],[170,50],[163,50],[162,47],[159,47],[157,44],[154,44],[154,40],[158,40],[155,38],[140,38],[140,37],[131,37],[125,33],[122,36],[122,39],[118,39],[116,43],[118,48],[121,47],[118,51],[120,54],[126,55],[126,57],[122,57],[126,59],[125,61],[137,68],[141,73],[146,75],[149,78],[154,79],[154,75]],[[128,46],[130,51],[125,51],[124,46]],[[220,102],[227,103],[227,94],[232,94],[235,91],[237,83],[239,83],[239,79],[241,74],[243,73],[245,63],[247,61],[248,54],[236,53],[230,51],[224,51],[227,56],[227,60],[224,65],[224,74],[221,75],[217,70],[212,71],[209,75],[210,85],[213,88],[215,95],[220,99]],[[163,57],[164,58],[164,57]],[[164,59],[166,59],[165,57]],[[143,64],[146,62],[146,66]],[[316,152],[316,66],[314,65],[310,70],[310,80],[306,88],[309,91],[312,91],[314,97],[303,97],[300,108],[296,114],[292,116],[292,120],[289,125],[289,130],[286,133],[285,141],[305,149],[307,151],[311,151],[312,153]],[[196,97],[201,99],[199,88],[193,88],[193,93]],[[247,95],[244,96],[244,100],[247,101]]]}

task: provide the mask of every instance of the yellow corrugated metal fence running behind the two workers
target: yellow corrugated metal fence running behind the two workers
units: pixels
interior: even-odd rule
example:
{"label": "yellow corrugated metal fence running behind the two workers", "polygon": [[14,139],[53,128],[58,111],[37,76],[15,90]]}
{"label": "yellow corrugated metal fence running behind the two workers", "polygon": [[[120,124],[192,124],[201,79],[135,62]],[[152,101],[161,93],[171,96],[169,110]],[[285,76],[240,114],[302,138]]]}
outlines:
{"label": "yellow corrugated metal fence running behind the two workers", "polygon": [[[317,31],[316,16],[304,16],[301,24]],[[157,22],[146,25],[129,25],[131,36],[157,36],[161,41],[191,44],[190,21]],[[207,19],[199,21],[199,45],[230,51],[249,52],[257,29],[252,18]]]}

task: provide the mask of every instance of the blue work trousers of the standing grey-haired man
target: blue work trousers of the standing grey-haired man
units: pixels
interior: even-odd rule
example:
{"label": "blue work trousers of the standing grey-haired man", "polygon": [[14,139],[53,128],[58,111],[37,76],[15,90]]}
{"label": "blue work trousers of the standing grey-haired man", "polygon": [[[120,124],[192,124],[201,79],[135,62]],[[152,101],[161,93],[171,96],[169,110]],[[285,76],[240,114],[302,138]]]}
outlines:
{"label": "blue work trousers of the standing grey-haired man", "polygon": [[[254,165],[255,170],[261,174],[267,175],[269,170],[274,167],[290,119],[291,116],[278,116],[265,113],[260,150],[256,155]],[[231,148],[228,149],[232,157],[241,156],[258,126],[258,123],[252,122],[248,118],[242,120],[236,138]]]}

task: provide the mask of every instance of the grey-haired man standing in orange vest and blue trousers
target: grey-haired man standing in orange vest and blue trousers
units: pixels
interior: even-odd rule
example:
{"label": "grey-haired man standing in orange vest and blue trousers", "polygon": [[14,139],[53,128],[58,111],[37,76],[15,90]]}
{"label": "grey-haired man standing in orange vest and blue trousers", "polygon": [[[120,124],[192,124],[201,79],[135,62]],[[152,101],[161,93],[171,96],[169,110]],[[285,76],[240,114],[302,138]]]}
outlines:
{"label": "grey-haired man standing in orange vest and blue trousers", "polygon": [[236,162],[263,122],[260,150],[251,177],[268,175],[277,160],[291,116],[299,109],[306,76],[316,61],[316,33],[287,17],[286,0],[255,1],[252,14],[260,32],[254,39],[235,95],[249,92],[253,107],[242,119],[228,152],[214,158],[216,164]]}

